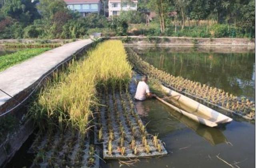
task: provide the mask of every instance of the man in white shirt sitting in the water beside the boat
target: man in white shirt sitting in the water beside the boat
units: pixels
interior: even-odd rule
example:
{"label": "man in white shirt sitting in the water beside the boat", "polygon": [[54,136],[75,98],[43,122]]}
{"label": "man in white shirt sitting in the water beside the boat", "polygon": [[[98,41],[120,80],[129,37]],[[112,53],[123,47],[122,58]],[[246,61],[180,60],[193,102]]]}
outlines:
{"label": "man in white shirt sitting in the water beside the boat", "polygon": [[139,81],[136,94],[135,94],[135,99],[139,101],[144,101],[146,97],[155,97],[156,95],[150,93],[149,86],[147,84],[148,82],[148,77],[143,76],[142,81]]}

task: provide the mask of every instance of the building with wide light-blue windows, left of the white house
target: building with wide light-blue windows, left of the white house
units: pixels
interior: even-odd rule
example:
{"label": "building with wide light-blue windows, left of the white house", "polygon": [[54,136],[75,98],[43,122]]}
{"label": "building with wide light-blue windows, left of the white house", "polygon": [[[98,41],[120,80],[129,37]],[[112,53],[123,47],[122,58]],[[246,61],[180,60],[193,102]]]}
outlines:
{"label": "building with wide light-blue windows, left of the white house", "polygon": [[82,16],[92,12],[100,14],[102,8],[101,0],[64,0],[64,2],[66,2],[68,9],[76,10]]}

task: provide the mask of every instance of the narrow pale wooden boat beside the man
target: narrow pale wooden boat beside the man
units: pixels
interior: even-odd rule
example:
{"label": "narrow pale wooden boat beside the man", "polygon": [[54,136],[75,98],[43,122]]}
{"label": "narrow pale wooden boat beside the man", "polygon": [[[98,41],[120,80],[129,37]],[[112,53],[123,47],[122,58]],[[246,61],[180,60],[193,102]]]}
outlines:
{"label": "narrow pale wooden boat beside the man", "polygon": [[[218,111],[198,103],[197,101],[194,101],[193,99],[190,99],[189,97],[186,97],[163,85],[162,90],[170,97],[163,99],[156,97],[156,99],[198,123],[214,127],[218,126],[219,124],[229,123],[233,120],[230,117],[223,115]],[[168,103],[167,101],[164,101],[164,99],[168,99],[171,102]]]}

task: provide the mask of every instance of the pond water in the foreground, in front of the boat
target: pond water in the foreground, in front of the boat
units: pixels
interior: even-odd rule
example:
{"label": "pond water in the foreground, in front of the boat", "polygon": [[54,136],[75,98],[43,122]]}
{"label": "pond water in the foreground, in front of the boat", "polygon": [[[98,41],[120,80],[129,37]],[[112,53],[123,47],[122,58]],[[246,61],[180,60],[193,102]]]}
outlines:
{"label": "pond water in the foreground, in front of the boat", "polygon": [[[138,77],[137,80],[139,80]],[[136,85],[131,86],[134,95]],[[196,123],[156,99],[136,102],[136,108],[150,134],[159,134],[168,156],[141,159],[138,168],[228,168],[237,162],[240,168],[255,164],[255,124],[241,118],[227,125],[210,128]],[[218,158],[218,157],[219,158]],[[118,161],[108,160],[104,168],[118,168]],[[126,167],[126,166],[124,166]]]}

